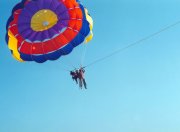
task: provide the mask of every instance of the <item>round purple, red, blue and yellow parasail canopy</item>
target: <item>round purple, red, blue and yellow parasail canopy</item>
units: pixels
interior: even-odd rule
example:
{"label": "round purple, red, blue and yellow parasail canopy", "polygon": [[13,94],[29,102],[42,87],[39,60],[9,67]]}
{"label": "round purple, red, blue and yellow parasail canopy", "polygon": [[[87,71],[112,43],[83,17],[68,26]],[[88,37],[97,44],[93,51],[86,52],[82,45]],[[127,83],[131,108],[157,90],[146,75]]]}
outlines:
{"label": "round purple, red, blue and yellow parasail canopy", "polygon": [[78,0],[22,0],[6,28],[8,47],[21,62],[56,60],[93,37],[93,20]]}

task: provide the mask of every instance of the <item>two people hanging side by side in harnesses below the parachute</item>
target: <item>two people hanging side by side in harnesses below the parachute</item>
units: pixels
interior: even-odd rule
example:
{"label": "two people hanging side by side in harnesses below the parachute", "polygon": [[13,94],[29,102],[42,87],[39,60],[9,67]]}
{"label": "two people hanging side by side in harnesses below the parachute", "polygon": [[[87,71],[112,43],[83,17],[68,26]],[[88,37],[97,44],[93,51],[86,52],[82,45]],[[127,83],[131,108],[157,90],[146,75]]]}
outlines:
{"label": "two people hanging side by side in harnesses below the parachute", "polygon": [[79,83],[79,87],[82,89],[83,86],[87,89],[87,84],[84,78],[85,70],[81,67],[79,70],[70,71],[70,75],[72,76],[73,81],[76,81],[76,84]]}

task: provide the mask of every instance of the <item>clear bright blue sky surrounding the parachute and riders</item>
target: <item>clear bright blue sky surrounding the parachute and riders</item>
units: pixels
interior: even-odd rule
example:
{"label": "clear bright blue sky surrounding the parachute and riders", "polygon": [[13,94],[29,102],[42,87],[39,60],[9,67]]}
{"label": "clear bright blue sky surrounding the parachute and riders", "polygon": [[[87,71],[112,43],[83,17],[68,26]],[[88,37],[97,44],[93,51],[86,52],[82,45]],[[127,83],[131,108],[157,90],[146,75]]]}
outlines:
{"label": "clear bright blue sky surrounding the parachute and riders", "polygon": [[[58,61],[19,63],[5,25],[19,0],[0,1],[0,132],[179,132],[180,25],[71,80],[82,47]],[[94,19],[85,64],[180,20],[179,0],[82,0]]]}

